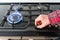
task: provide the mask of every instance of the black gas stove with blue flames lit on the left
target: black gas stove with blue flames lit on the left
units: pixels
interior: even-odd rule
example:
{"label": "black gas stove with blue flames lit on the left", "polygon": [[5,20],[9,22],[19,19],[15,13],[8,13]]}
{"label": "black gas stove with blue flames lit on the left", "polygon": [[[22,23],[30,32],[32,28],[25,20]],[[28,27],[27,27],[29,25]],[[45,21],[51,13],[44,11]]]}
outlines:
{"label": "black gas stove with blue flames lit on the left", "polygon": [[40,14],[54,11],[50,6],[49,3],[1,3],[0,36],[58,36],[57,25],[38,29],[34,24]]}

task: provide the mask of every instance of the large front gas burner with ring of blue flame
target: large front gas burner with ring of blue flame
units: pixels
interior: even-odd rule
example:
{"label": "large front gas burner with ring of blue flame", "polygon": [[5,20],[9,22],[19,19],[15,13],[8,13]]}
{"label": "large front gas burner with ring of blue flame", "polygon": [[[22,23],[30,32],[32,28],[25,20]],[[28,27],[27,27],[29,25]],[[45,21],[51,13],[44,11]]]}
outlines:
{"label": "large front gas burner with ring of blue flame", "polygon": [[7,17],[7,21],[11,24],[16,24],[19,23],[20,21],[22,21],[23,17],[21,15],[21,13],[19,13],[18,11],[15,11],[14,13],[10,14]]}

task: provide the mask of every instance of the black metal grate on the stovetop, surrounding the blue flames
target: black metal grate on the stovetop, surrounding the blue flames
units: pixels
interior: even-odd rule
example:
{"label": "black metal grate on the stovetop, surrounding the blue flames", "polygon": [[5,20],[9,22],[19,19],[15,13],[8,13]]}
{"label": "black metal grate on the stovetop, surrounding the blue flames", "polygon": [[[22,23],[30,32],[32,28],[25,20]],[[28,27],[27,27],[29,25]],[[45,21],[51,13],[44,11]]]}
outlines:
{"label": "black metal grate on the stovetop, surrounding the blue flames", "polygon": [[[52,10],[49,9],[49,5],[48,4],[45,4],[45,5],[41,5],[41,4],[18,4],[19,5],[19,9],[18,11],[21,12],[21,14],[23,15],[23,21],[22,23],[19,23],[19,24],[8,24],[7,22],[7,16],[10,15],[10,12],[11,11],[14,11],[12,10],[13,9],[13,6],[17,6],[16,4],[12,4],[11,5],[11,8],[8,10],[8,12],[6,13],[6,15],[4,16],[4,19],[2,20],[1,22],[1,26],[0,28],[16,28],[16,29],[19,29],[19,28],[26,28],[30,25],[33,25],[34,26],[34,19],[40,15],[40,14],[44,14],[44,12],[52,12]],[[41,7],[41,9],[39,9],[38,7]],[[27,9],[26,9],[27,7]],[[44,10],[45,9],[45,10]],[[46,10],[47,9],[47,10]],[[10,26],[8,27],[7,26]]]}

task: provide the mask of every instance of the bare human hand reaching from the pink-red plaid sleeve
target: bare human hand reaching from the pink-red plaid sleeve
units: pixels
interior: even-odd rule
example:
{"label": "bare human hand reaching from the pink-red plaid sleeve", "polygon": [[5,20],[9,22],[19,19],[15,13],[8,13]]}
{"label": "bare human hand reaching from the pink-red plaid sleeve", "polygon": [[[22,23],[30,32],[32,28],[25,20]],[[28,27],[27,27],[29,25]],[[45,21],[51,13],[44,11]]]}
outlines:
{"label": "bare human hand reaching from the pink-red plaid sleeve", "polygon": [[41,14],[35,19],[35,25],[37,28],[41,29],[41,28],[46,27],[49,24],[50,24],[50,22],[48,19],[48,15]]}

